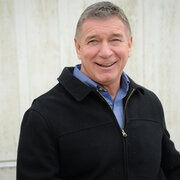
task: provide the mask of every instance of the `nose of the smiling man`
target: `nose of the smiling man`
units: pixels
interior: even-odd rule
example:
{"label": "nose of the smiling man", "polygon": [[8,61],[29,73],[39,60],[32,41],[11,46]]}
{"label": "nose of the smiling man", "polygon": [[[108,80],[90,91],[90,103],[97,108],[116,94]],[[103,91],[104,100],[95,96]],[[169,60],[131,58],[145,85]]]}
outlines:
{"label": "nose of the smiling man", "polygon": [[109,58],[111,55],[112,55],[112,50],[108,42],[102,42],[99,51],[99,56],[105,59],[105,58]]}

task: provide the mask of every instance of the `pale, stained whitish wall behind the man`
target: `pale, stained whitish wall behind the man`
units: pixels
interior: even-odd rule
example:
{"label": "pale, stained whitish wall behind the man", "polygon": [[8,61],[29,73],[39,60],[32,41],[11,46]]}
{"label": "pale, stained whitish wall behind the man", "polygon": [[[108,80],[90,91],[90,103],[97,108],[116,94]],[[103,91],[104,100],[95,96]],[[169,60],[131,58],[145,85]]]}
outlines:
{"label": "pale, stained whitish wall behind the man", "polygon": [[[74,49],[81,12],[97,0],[0,0],[0,179],[15,180],[20,123],[32,100],[57,83]],[[180,1],[112,0],[134,36],[126,72],[153,90],[180,150]]]}

